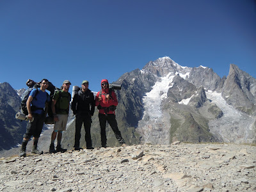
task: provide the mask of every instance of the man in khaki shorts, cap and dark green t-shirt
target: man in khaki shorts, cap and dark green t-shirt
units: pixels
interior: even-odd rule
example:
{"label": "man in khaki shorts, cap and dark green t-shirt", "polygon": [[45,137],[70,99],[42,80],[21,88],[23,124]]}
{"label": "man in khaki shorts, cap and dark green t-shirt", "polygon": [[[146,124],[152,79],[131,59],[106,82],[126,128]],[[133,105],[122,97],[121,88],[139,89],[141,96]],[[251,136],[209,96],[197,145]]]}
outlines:
{"label": "man in khaki shorts, cap and dark green t-shirt", "polygon": [[[71,95],[68,93],[70,87],[70,81],[65,80],[61,86],[61,90],[57,90],[52,98],[52,113],[54,115],[54,130],[52,131],[51,145],[49,153],[55,152],[66,152],[67,149],[61,148],[62,132],[66,131],[68,113],[69,113],[69,102]],[[58,136],[57,136],[58,135]],[[57,137],[57,147],[55,150],[54,141]]]}

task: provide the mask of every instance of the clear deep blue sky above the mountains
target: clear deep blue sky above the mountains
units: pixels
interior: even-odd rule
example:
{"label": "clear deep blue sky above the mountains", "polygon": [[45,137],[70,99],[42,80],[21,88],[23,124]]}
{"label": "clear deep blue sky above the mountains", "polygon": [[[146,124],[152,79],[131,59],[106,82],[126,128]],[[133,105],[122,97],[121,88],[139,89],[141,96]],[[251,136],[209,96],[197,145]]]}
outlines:
{"label": "clear deep blue sky above the mountains", "polygon": [[234,63],[256,77],[255,34],[253,0],[1,0],[0,83],[86,79],[99,91],[101,79],[163,56],[220,77]]}

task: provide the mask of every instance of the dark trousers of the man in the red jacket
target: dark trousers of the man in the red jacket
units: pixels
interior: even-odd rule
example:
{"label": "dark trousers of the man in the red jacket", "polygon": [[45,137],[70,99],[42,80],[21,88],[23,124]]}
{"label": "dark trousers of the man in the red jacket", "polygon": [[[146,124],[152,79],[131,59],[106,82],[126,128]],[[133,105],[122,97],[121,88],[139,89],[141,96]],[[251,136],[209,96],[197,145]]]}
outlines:
{"label": "dark trousers of the man in the red jacket", "polygon": [[100,136],[101,136],[101,145],[106,146],[107,144],[107,136],[106,136],[106,123],[112,128],[113,132],[115,133],[116,139],[120,144],[125,143],[124,139],[122,138],[121,132],[117,127],[116,116],[115,114],[108,114],[104,115],[99,113],[99,122],[100,122]]}

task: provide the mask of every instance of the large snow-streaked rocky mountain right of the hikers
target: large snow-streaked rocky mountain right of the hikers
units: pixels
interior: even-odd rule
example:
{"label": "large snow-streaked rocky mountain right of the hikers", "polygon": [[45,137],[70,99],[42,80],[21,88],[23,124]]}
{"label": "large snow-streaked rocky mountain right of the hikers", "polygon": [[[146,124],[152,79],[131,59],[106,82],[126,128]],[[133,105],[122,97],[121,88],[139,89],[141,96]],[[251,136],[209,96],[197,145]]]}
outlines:
{"label": "large snow-streaked rocky mountain right of the hikers", "polygon": [[164,57],[116,83],[124,87],[120,115],[141,142],[256,142],[255,79],[236,65],[221,79],[211,68],[182,67]]}

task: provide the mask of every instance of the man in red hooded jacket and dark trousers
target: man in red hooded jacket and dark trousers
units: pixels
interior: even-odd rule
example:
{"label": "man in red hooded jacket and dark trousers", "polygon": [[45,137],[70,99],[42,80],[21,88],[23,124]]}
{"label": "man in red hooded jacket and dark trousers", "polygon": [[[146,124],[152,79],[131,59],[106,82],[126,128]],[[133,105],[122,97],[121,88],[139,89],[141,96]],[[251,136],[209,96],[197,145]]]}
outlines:
{"label": "man in red hooded jacket and dark trousers", "polygon": [[95,97],[95,106],[99,109],[99,122],[100,122],[100,136],[101,136],[101,146],[107,147],[107,137],[106,137],[106,122],[108,121],[112,130],[115,133],[118,142],[125,146],[125,141],[122,138],[121,132],[118,129],[115,109],[118,104],[116,99],[116,93],[113,89],[109,88],[109,83],[107,79],[102,79],[101,90],[97,93]]}

